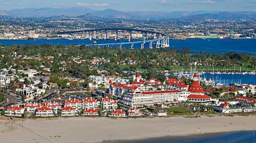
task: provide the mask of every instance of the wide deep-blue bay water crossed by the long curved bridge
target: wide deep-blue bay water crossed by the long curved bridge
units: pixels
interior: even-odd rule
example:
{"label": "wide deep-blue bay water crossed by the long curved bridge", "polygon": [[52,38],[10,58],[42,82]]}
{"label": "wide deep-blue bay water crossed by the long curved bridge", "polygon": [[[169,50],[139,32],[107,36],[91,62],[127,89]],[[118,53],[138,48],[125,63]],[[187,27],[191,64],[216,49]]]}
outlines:
{"label": "wide deep-blue bay water crossed by the long curved bridge", "polygon": [[[97,44],[103,43],[113,43],[113,42],[127,42],[128,40],[121,39],[119,41],[114,40],[96,40]],[[132,41],[139,41],[138,39],[133,39]],[[66,39],[40,39],[40,40],[0,40],[0,44],[6,45],[24,45],[37,44],[42,45],[43,43],[49,43],[52,45],[62,44],[62,45],[83,45],[83,44],[93,44],[93,40],[80,39],[80,40],[66,40]],[[253,48],[256,45],[256,39],[187,39],[187,40],[170,40],[170,47],[180,48],[188,47],[193,51],[210,51],[217,53],[224,52],[238,52],[246,54],[256,54],[256,49]],[[123,48],[129,49],[130,45],[123,45]],[[149,43],[145,44],[145,48],[149,47]],[[155,44],[154,44],[155,47]],[[141,44],[135,44],[134,48],[140,49]]]}

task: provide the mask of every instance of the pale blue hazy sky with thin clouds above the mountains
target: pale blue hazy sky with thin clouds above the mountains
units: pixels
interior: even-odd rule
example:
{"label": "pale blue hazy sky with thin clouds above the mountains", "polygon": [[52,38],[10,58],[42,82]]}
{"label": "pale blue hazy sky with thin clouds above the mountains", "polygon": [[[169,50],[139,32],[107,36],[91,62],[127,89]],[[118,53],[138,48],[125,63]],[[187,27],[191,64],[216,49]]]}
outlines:
{"label": "pale blue hazy sky with thin clouds above the mountains", "polygon": [[256,0],[0,0],[0,9],[88,7],[121,11],[256,11]]}

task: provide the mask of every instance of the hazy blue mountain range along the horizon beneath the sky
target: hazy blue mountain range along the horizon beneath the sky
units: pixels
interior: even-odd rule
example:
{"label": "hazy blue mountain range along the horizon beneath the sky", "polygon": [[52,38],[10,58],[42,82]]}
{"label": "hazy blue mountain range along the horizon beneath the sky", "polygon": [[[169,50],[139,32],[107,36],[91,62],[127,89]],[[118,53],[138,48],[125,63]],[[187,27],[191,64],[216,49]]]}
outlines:
{"label": "hazy blue mountain range along the horizon beneath the sky", "polygon": [[175,12],[154,12],[154,11],[130,11],[122,12],[113,9],[93,10],[84,7],[69,8],[23,8],[12,10],[0,10],[0,16],[10,17],[53,17],[53,16],[81,16],[90,14],[103,18],[126,18],[126,19],[219,19],[219,20],[256,20],[256,12],[219,12],[219,11],[175,11]]}

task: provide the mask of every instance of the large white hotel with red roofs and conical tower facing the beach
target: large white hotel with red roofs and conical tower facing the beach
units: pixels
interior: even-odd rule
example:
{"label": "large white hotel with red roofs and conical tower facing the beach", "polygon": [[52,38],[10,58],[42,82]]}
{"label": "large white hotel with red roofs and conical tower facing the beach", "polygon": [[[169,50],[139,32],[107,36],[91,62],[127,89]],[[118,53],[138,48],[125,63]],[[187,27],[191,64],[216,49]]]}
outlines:
{"label": "large white hotel with red roofs and conical tower facing the beach", "polygon": [[[169,83],[170,81],[167,79],[165,82]],[[145,82],[147,82],[147,85],[145,85]],[[161,85],[159,80],[143,80],[137,73],[136,82],[132,84],[110,83],[109,93],[118,97],[124,105],[131,107],[187,100],[191,102],[211,101],[211,97],[204,94],[196,73],[190,86],[179,82],[169,84],[170,86],[163,88],[164,85]]]}

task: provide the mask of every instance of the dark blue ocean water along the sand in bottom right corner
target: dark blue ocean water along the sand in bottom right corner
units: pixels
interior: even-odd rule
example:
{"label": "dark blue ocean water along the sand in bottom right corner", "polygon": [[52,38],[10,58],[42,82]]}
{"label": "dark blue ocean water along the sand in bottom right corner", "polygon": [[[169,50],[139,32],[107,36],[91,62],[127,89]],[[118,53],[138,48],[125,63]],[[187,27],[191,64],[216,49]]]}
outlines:
{"label": "dark blue ocean water along the sand in bottom right corner", "polygon": [[[121,142],[120,142],[121,143]],[[166,139],[149,139],[138,141],[122,141],[122,143],[256,143],[256,135],[252,131],[218,133],[212,135],[166,137]]]}

